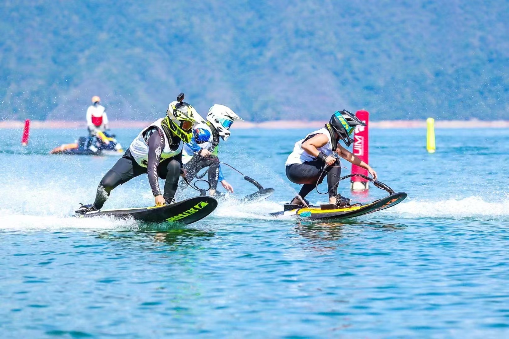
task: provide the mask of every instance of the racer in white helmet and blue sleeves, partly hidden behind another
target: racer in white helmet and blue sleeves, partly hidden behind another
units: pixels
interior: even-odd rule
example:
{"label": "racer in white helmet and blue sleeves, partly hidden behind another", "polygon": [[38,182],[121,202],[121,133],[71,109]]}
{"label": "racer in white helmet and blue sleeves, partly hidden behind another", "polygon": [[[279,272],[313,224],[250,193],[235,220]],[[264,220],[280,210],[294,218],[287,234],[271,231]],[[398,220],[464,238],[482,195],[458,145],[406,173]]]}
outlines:
{"label": "racer in white helmet and blue sleeves, partly hidden behind another", "polygon": [[[233,193],[233,187],[222,174],[217,152],[219,137],[226,141],[231,134],[230,127],[236,120],[242,119],[227,106],[213,105],[207,114],[207,124],[194,127],[193,138],[184,145],[182,151],[182,161],[189,181],[194,179],[203,168],[209,168],[208,181],[211,196],[219,194],[216,192],[218,181],[224,189]],[[181,182],[180,188],[185,188],[185,182]]]}

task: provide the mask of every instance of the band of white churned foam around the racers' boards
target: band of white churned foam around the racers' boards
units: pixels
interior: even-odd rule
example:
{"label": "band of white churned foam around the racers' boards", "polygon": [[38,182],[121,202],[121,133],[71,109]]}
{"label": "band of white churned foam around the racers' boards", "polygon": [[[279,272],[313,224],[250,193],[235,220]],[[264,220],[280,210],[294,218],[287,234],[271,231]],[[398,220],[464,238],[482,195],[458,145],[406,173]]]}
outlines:
{"label": "band of white churned foam around the racers' boards", "polygon": [[[11,186],[11,185],[6,185]],[[69,184],[72,186],[72,183]],[[115,205],[123,202],[126,205],[140,205],[151,203],[151,192],[139,193],[138,189],[131,187],[129,190],[119,190],[115,196]],[[54,184],[52,189],[44,187],[27,188],[9,187],[13,194],[7,199],[4,196],[3,208],[0,208],[2,221],[0,229],[4,230],[97,230],[97,229],[139,229],[143,227],[134,220],[119,220],[115,218],[75,218],[72,216],[77,208],[76,196],[91,195],[90,190],[84,188],[71,189],[59,188]],[[7,192],[10,190],[7,190]],[[133,194],[136,192],[137,194]],[[93,193],[93,192],[92,192]],[[117,193],[117,192],[116,192]],[[212,213],[214,219],[230,219],[232,222],[239,220],[274,220],[268,213],[282,210],[284,201],[259,200],[243,202],[235,196],[227,196],[219,201],[217,209]],[[128,202],[128,203],[127,203]],[[112,204],[114,205],[114,204]],[[108,206],[115,208],[117,206]],[[509,197],[498,201],[488,202],[478,196],[468,198],[450,198],[443,200],[412,200],[408,199],[392,208],[374,214],[369,214],[363,219],[384,218],[446,218],[465,219],[475,218],[483,220],[500,219],[509,215]]]}

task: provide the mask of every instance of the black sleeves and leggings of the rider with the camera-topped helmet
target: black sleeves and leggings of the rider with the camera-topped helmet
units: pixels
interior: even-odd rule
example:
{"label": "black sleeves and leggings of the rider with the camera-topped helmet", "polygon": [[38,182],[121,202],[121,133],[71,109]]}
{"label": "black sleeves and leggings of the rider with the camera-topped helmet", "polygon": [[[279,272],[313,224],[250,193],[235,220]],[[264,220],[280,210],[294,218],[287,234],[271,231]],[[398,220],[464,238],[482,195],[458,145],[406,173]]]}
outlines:
{"label": "black sleeves and leggings of the rider with the camera-topped helmet", "polygon": [[[101,183],[99,183],[94,201],[96,209],[100,209],[104,205],[104,202],[109,197],[109,193],[113,189],[141,174],[148,174],[150,188],[154,197],[161,194],[158,178],[165,179],[163,197],[166,203],[172,202],[177,191],[180,170],[182,168],[182,152],[173,158],[159,162],[161,159],[161,149],[164,148],[163,133],[163,131],[154,126],[144,134],[144,139],[149,145],[147,167],[140,166],[132,157],[130,150],[126,150],[124,156],[104,175]],[[172,149],[179,147],[179,138],[168,137],[168,140],[172,142]]]}

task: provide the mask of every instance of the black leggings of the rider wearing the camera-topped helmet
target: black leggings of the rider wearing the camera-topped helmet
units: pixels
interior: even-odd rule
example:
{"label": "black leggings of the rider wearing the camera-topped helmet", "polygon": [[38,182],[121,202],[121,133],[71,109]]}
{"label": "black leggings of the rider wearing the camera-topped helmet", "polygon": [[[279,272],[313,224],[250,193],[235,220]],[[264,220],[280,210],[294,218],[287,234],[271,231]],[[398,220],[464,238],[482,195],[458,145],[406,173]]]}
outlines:
{"label": "black leggings of the rider wearing the camera-topped helmet", "polygon": [[[177,192],[181,163],[182,153],[176,157],[163,160],[157,167],[157,175],[166,180],[163,193],[166,203],[170,203],[175,196],[175,192]],[[131,156],[129,149],[127,149],[124,156],[103,176],[101,183],[99,183],[94,201],[96,209],[100,209],[104,205],[113,189],[141,174],[147,174],[147,167],[138,165]]]}

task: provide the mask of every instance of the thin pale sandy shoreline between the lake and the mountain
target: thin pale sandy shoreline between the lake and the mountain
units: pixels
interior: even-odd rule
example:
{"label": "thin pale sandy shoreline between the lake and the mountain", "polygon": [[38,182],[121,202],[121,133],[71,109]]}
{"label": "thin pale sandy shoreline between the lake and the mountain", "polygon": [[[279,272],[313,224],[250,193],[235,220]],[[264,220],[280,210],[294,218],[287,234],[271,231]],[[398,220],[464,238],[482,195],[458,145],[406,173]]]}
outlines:
{"label": "thin pale sandy shoreline between the lake and the mountain", "polygon": [[[152,121],[116,120],[110,122],[110,128],[144,128]],[[326,121],[303,121],[303,120],[271,120],[263,122],[237,121],[233,129],[305,129],[321,128]],[[0,129],[22,129],[24,121],[5,120],[0,121]],[[84,121],[58,121],[46,120],[31,121],[33,129],[64,129],[64,128],[87,128]],[[426,120],[383,120],[371,121],[370,128],[398,129],[398,128],[426,128]],[[437,129],[461,129],[461,128],[509,128],[509,120],[435,120]]]}

